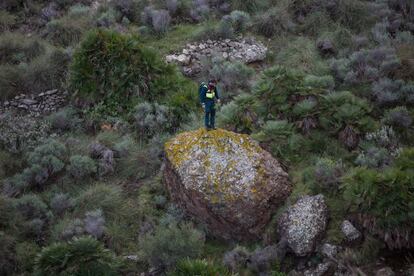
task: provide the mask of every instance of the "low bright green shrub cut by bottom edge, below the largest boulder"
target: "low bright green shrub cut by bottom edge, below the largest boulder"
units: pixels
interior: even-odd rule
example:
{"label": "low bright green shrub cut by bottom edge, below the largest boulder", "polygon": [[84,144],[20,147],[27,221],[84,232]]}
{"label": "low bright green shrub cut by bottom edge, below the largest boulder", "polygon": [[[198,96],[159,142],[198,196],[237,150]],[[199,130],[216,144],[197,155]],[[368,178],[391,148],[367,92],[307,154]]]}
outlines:
{"label": "low bright green shrub cut by bottom edge, below the largest boulder", "polygon": [[171,276],[213,276],[213,275],[231,275],[224,267],[212,264],[204,259],[185,259],[178,262],[174,272],[169,273]]}

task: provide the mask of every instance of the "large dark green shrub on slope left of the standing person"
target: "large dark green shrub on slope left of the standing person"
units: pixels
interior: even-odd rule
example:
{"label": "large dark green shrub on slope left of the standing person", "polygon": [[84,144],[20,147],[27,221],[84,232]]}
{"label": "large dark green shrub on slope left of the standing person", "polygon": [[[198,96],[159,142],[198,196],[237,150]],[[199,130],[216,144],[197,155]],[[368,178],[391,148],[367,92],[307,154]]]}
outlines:
{"label": "large dark green shrub on slope left of the standing person", "polygon": [[69,88],[96,104],[98,114],[110,116],[132,109],[137,102],[164,98],[177,116],[185,117],[192,108],[191,94],[196,94],[173,65],[140,45],[137,37],[101,29],[89,32],[75,52]]}

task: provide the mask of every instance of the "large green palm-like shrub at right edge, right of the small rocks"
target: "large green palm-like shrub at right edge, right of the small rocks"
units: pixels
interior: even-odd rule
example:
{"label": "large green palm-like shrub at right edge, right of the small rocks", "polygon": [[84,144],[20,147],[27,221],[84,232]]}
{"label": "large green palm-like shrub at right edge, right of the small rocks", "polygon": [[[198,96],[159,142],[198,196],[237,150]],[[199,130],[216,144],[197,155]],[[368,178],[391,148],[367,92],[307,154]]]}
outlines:
{"label": "large green palm-like shrub at right edge, right of the small rocks", "polygon": [[344,199],[363,225],[390,248],[411,247],[413,230],[414,150],[404,149],[392,167],[357,168],[346,178]]}

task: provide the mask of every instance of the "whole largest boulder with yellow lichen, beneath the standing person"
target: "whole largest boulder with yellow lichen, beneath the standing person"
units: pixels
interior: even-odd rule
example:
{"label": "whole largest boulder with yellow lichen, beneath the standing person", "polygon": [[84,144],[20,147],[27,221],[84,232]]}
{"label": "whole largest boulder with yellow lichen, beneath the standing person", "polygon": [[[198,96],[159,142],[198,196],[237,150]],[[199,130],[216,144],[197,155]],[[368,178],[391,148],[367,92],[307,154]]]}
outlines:
{"label": "whole largest boulder with yellow lichen, beneath the standing person", "polygon": [[291,192],[288,174],[248,135],[204,129],[165,145],[171,198],[224,239],[260,236]]}

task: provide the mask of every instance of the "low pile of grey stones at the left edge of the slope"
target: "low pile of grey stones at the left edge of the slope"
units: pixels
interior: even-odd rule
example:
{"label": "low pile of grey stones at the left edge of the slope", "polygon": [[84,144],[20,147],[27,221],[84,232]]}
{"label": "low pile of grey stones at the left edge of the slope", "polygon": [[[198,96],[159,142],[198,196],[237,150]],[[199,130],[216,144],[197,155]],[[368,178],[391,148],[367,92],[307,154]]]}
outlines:
{"label": "low pile of grey stones at the left edge of the slope", "polygon": [[57,89],[42,92],[37,95],[21,94],[14,99],[0,103],[0,113],[19,110],[38,117],[42,114],[49,114],[64,106],[67,99],[67,92]]}

